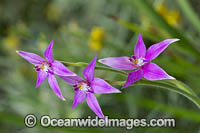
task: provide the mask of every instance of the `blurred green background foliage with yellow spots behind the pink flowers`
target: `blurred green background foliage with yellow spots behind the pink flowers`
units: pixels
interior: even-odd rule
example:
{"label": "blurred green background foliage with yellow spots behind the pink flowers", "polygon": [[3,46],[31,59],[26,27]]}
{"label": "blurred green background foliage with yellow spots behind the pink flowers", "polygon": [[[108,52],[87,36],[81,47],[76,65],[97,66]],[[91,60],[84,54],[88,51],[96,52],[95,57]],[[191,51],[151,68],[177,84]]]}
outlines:
{"label": "blurred green background foliage with yellow spots behind the pink flowers", "polygon": [[[30,113],[38,118],[44,114],[56,118],[95,117],[86,102],[72,109],[73,89],[59,78],[65,102],[47,81],[35,88],[33,66],[15,52],[24,50],[42,56],[51,40],[55,40],[54,59],[89,62],[97,53],[99,59],[132,55],[139,33],[147,47],[180,38],[154,62],[200,96],[199,6],[198,0],[1,0],[0,132],[129,132],[124,128],[25,127],[24,116]],[[68,68],[79,75],[83,70]],[[95,75],[126,79],[103,70],[96,70]],[[96,95],[105,116],[176,119],[175,128],[135,128],[131,132],[200,132],[200,111],[184,96],[149,86],[131,86],[122,92]]]}

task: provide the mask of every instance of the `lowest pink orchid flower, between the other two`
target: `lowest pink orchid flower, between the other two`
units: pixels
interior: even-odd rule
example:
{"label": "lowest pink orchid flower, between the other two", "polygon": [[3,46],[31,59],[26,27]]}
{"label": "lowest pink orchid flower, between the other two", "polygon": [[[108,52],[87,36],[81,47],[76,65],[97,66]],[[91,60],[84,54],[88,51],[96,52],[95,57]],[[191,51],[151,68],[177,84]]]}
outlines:
{"label": "lowest pink orchid flower, between the other two", "polygon": [[79,103],[86,99],[88,106],[93,112],[100,118],[104,118],[94,94],[120,93],[120,91],[113,88],[103,79],[94,78],[96,59],[97,56],[95,56],[91,63],[83,70],[83,75],[86,80],[83,80],[79,76],[62,77],[62,79],[74,87],[75,95],[72,108],[75,108]]}

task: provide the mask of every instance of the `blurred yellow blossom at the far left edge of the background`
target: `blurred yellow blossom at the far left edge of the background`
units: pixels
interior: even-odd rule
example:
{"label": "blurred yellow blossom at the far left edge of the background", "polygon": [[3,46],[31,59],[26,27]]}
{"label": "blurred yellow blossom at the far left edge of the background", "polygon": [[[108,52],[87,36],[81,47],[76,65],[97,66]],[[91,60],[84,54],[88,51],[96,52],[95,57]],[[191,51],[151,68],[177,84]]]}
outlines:
{"label": "blurred yellow blossom at the far left edge of the background", "polygon": [[13,52],[18,49],[19,47],[19,38],[15,34],[10,34],[3,39],[3,45],[6,50],[9,52]]}

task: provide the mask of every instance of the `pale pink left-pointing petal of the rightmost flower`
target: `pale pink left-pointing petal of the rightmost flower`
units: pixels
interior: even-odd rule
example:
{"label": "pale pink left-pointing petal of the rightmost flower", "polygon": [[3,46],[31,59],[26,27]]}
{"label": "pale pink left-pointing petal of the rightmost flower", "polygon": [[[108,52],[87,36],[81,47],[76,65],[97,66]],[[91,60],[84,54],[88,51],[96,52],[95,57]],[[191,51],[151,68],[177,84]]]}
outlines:
{"label": "pale pink left-pointing petal of the rightmost flower", "polygon": [[116,69],[121,69],[121,70],[135,69],[136,66],[129,59],[130,58],[126,56],[109,57],[109,58],[100,59],[99,62],[104,65],[107,65]]}

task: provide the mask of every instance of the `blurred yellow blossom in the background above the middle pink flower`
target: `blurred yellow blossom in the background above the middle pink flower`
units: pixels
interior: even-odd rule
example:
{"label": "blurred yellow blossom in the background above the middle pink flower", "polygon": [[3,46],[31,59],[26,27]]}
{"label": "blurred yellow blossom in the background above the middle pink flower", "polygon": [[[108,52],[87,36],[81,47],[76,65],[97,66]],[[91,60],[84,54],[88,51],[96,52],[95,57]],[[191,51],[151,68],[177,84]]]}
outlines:
{"label": "blurred yellow blossom in the background above the middle pink flower", "polygon": [[90,33],[89,47],[98,52],[103,48],[104,29],[101,27],[94,27]]}

